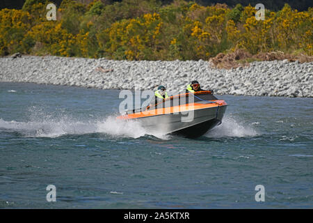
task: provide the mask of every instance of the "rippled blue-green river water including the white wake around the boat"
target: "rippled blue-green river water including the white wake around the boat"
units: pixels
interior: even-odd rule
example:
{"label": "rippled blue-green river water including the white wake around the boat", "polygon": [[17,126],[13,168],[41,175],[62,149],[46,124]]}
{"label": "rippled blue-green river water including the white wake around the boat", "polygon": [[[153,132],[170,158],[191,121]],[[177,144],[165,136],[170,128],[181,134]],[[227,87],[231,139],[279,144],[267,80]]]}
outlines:
{"label": "rippled blue-green river water including the white wake around the boat", "polygon": [[184,139],[115,121],[119,92],[0,83],[0,208],[312,208],[313,98],[218,95]]}

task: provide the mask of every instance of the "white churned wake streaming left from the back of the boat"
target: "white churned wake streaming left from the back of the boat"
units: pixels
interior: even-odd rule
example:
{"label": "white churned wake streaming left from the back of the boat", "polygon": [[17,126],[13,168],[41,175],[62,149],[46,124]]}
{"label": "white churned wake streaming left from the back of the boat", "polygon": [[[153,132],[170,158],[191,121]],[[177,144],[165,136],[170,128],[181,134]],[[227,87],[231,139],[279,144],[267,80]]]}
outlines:
{"label": "white churned wake streaming left from the back of the boat", "polygon": [[152,134],[159,139],[168,139],[161,132],[148,132],[136,121],[122,121],[115,116],[78,121],[75,118],[38,118],[40,121],[4,121],[0,118],[0,132],[17,132],[24,137],[61,137],[65,134],[104,133],[112,137],[138,138]]}

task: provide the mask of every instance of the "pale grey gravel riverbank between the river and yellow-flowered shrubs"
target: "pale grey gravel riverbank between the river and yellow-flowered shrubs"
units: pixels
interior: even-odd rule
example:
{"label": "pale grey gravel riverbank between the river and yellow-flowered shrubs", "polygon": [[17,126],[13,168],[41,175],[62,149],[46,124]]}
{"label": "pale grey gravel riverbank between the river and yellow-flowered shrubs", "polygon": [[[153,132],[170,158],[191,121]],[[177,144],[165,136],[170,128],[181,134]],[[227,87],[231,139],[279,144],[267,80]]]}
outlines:
{"label": "pale grey gravel riverbank between the river and yellow-flowered shrubs", "polygon": [[22,56],[0,58],[0,82],[97,89],[185,91],[192,80],[217,94],[313,97],[313,62],[262,61],[247,68],[211,68],[207,61],[113,61]]}

